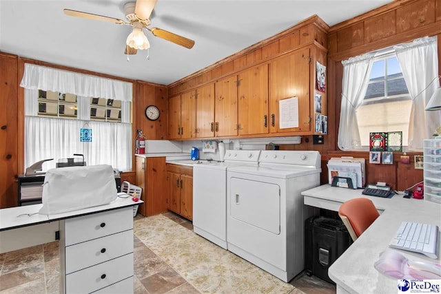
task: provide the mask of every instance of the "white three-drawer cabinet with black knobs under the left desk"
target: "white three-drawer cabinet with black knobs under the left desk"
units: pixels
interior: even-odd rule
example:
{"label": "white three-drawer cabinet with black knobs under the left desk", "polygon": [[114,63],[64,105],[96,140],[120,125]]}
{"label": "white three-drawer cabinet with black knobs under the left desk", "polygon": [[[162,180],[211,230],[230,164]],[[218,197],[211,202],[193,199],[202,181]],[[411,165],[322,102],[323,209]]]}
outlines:
{"label": "white three-drawer cabinet with black knobs under the left desk", "polygon": [[132,207],[61,220],[60,237],[62,293],[133,293]]}

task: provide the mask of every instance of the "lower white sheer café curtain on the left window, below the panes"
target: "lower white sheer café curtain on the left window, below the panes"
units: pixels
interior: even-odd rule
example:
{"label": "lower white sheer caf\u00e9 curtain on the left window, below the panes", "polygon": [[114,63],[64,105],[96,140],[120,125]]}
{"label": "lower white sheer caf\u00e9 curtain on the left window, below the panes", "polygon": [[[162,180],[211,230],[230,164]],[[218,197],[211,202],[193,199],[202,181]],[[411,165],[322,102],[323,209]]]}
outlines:
{"label": "lower white sheer caf\u00e9 curtain on the left window, below the panes", "polygon": [[[92,142],[80,142],[80,129],[88,124]],[[25,116],[25,167],[43,159],[44,170],[55,167],[59,158],[83,154],[87,165],[112,165],[121,171],[132,169],[132,126],[63,118]]]}

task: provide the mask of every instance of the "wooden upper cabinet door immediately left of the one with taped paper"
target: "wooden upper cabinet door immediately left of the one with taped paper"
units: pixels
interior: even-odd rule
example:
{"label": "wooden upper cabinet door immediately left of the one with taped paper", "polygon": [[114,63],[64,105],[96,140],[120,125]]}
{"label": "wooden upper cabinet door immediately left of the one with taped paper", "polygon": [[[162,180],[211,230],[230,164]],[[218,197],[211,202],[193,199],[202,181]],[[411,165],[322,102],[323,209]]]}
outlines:
{"label": "wooden upper cabinet door immediately left of the one with taped paper", "polygon": [[238,75],[239,135],[268,133],[268,65]]}

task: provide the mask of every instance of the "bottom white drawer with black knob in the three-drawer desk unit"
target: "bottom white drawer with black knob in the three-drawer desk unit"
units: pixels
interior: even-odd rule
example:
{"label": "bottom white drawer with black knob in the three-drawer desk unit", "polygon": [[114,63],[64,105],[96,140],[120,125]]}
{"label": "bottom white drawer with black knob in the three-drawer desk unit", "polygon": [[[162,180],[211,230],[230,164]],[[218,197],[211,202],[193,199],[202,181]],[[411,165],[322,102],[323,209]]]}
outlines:
{"label": "bottom white drawer with black knob in the three-drawer desk unit", "polygon": [[90,293],[133,276],[133,253],[66,275],[66,293]]}

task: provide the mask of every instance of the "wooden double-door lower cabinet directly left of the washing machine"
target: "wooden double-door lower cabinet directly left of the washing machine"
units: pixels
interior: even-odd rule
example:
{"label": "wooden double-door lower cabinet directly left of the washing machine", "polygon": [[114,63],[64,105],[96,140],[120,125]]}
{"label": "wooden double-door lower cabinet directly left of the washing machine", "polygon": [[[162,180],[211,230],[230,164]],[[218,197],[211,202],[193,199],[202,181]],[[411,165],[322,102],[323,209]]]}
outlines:
{"label": "wooden double-door lower cabinet directly left of the washing machine", "polygon": [[193,167],[167,164],[167,209],[193,220]]}

